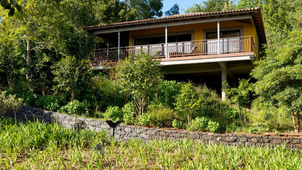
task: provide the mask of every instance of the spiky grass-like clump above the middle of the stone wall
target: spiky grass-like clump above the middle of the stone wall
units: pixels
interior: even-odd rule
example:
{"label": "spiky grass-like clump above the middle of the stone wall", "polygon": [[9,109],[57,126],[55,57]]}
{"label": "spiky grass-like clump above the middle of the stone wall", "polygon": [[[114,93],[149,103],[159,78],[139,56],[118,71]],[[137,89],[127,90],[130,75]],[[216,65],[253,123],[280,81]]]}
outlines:
{"label": "spiky grass-like clump above the middle of the stone wall", "polygon": [[153,126],[171,126],[176,113],[169,107],[161,106],[153,108],[149,111],[151,124]]}

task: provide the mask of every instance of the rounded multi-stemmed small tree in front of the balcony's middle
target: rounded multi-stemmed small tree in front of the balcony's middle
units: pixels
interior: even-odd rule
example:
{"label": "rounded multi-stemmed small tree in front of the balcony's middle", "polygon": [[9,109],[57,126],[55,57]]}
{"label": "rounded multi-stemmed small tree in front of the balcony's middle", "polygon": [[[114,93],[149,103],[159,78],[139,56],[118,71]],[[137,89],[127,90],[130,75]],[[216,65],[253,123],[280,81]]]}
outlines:
{"label": "rounded multi-stemmed small tree in front of the balcony's middle", "polygon": [[143,51],[120,61],[116,66],[117,79],[133,97],[140,115],[144,113],[149,95],[163,79],[160,67],[160,60],[153,59],[149,53]]}

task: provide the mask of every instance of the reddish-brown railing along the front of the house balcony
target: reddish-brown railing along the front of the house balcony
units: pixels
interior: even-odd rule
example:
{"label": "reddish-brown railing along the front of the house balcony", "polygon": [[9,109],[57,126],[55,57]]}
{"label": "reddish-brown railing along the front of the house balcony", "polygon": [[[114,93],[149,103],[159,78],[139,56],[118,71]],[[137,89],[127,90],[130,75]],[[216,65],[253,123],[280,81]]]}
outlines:
{"label": "reddish-brown railing along the front of the house balcony", "polygon": [[[167,58],[218,54],[217,39],[168,43]],[[251,36],[220,38],[220,54],[254,52],[255,44]],[[140,51],[155,58],[165,58],[165,43],[143,46],[120,47],[120,60]],[[117,61],[118,48],[97,49],[94,52],[95,63]]]}

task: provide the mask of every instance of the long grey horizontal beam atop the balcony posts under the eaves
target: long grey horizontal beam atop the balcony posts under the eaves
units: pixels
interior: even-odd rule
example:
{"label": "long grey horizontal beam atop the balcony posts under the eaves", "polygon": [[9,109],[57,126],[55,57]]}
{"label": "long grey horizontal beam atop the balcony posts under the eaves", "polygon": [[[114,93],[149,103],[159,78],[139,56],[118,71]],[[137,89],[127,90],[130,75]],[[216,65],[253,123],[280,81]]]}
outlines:
{"label": "long grey horizontal beam atop the balcony posts under the eaves", "polygon": [[250,18],[252,18],[252,15],[240,15],[240,16],[232,16],[232,17],[223,17],[223,18],[209,18],[209,19],[191,20],[191,21],[179,21],[179,22],[170,22],[170,23],[162,23],[162,24],[154,24],[154,25],[142,25],[142,26],[136,26],[131,28],[99,30],[99,31],[94,31],[93,34],[105,34],[105,33],[118,32],[118,31],[130,31],[130,30],[140,30],[140,29],[148,29],[148,28],[159,28],[165,26],[188,25],[188,24],[197,24],[197,23],[205,23],[205,22],[229,21],[229,20],[240,20],[240,19],[250,19]]}

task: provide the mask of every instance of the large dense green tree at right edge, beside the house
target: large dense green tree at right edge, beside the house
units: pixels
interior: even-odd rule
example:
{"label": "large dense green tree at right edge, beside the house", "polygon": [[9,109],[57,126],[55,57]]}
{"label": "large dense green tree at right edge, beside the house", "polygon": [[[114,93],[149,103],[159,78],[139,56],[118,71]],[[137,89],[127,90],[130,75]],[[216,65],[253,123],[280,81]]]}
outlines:
{"label": "large dense green tree at right edge, beside the house", "polygon": [[291,31],[282,46],[269,46],[267,56],[256,64],[258,98],[276,107],[284,106],[293,118],[294,132],[300,131],[302,111],[302,29]]}

